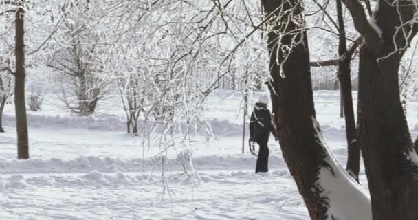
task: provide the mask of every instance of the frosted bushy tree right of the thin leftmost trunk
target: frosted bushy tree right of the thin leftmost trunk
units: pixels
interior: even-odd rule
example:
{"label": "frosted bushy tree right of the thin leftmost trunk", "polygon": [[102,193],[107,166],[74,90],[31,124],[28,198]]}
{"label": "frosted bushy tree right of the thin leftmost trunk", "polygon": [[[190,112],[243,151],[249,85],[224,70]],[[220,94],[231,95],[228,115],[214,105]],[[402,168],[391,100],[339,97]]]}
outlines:
{"label": "frosted bushy tree right of the thin leftmost trunk", "polygon": [[106,54],[109,45],[103,42],[102,26],[94,14],[98,4],[91,4],[77,0],[61,7],[63,22],[58,25],[60,36],[56,39],[61,38],[54,41],[55,51],[47,61],[47,66],[60,73],[58,98],[67,109],[81,116],[96,111],[98,102],[109,94],[110,83],[104,73],[107,57],[100,56]]}

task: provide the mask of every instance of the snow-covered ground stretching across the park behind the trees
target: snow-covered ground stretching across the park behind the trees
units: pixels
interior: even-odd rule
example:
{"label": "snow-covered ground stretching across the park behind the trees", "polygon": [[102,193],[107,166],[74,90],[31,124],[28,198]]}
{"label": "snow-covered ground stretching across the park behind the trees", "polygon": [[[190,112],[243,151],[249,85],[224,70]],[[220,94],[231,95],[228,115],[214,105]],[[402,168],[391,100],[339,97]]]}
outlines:
{"label": "snow-covered ground stretching across the park behind the trees", "polygon": [[[216,137],[197,137],[204,143],[188,152],[198,175],[185,174],[179,163],[187,152],[168,157],[164,172],[155,167],[151,157],[158,149],[144,151],[125,133],[117,99],[80,118],[47,96],[43,111],[28,113],[31,159],[18,161],[14,109],[8,105],[6,133],[0,133],[0,219],[308,219],[278,143],[270,140],[267,174],[254,173],[256,158],[247,144],[241,154],[242,97],[225,98],[227,93],[217,91],[208,100],[206,117]],[[314,96],[327,143],[345,166],[339,91]],[[408,105],[411,131],[417,107]],[[365,186],[363,168],[360,181]]]}

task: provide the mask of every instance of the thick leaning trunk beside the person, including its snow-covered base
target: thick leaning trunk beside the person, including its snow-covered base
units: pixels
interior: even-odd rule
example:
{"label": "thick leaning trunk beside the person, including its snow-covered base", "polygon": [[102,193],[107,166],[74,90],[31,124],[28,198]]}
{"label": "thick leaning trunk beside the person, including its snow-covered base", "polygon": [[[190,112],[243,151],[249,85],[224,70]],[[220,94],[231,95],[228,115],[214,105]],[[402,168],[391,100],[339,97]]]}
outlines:
{"label": "thick leaning trunk beside the person, including its snow-covered base", "polygon": [[[264,0],[263,5],[267,14],[274,13],[280,18],[272,19],[272,30],[268,33],[274,123],[283,157],[311,219],[371,219],[369,199],[336,164],[316,122],[307,35],[305,27],[300,26],[305,23],[302,2]],[[292,50],[288,50],[291,46]],[[333,184],[339,190],[330,187]],[[333,193],[338,194],[336,197],[347,197],[347,201],[333,200],[329,196]],[[330,206],[340,213],[330,210]]]}

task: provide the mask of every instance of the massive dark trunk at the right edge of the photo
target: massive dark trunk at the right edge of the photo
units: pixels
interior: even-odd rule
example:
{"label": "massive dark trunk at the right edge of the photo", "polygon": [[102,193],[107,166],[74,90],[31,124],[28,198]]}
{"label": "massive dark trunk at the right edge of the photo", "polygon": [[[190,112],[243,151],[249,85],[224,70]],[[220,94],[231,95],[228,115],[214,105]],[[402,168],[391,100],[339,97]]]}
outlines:
{"label": "massive dark trunk at the right edge of the photo", "polygon": [[[373,219],[418,219],[418,167],[410,159],[416,153],[399,98],[398,72],[404,51],[377,62],[395,51],[395,43],[398,48],[408,45],[410,39],[396,35],[395,30],[401,23],[399,14],[408,21],[413,12],[410,7],[398,11],[380,1],[375,14],[382,30],[380,54],[368,44],[360,49],[358,127]],[[409,25],[405,28],[416,34]]]}

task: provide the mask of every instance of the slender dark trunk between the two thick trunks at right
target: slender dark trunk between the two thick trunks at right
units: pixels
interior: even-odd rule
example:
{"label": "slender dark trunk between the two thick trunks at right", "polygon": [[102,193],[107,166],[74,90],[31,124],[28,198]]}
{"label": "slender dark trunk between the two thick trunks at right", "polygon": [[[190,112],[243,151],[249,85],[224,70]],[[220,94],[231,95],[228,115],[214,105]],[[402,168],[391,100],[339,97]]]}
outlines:
{"label": "slender dark trunk between the two thick trunks at right", "polygon": [[[343,102],[345,127],[347,136],[348,159],[347,172],[356,181],[359,181],[360,173],[360,146],[358,145],[357,131],[355,127],[355,116],[353,108],[353,95],[351,94],[351,56],[347,53],[347,40],[345,34],[345,25],[342,14],[341,0],[337,0],[338,28],[340,29],[338,43],[338,79],[340,80],[341,98]],[[345,56],[344,56],[345,55]],[[341,59],[343,57],[343,59]]]}

